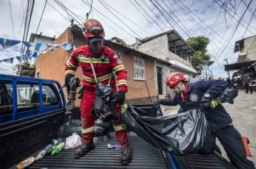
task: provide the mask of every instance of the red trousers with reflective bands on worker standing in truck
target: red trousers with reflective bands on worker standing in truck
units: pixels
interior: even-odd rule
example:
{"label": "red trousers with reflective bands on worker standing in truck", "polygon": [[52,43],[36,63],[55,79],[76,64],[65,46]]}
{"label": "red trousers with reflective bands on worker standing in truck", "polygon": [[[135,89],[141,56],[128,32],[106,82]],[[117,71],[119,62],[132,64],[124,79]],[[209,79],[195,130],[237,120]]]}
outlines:
{"label": "red trousers with reflective bands on worker standing in truck", "polygon": [[[93,135],[95,133],[95,118],[90,114],[90,110],[94,107],[94,101],[95,91],[88,91],[85,89],[80,103],[82,139],[85,143],[93,141]],[[121,113],[121,105],[119,103],[117,103],[116,110],[118,113]],[[114,127],[117,141],[119,141],[122,147],[126,147],[127,144],[129,144],[129,139],[125,124],[122,123],[121,120],[117,119],[112,122],[112,125]]]}

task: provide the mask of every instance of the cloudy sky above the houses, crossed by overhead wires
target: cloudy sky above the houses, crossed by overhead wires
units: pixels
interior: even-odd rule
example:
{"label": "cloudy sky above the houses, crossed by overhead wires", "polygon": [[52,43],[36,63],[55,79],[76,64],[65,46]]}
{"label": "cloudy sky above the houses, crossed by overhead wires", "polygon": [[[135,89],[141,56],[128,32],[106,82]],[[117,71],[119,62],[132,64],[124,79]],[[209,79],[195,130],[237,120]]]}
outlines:
{"label": "cloudy sky above the houses, crossed by overhead wires", "polygon": [[[60,2],[60,0],[57,1]],[[237,61],[238,52],[233,52],[235,42],[256,34],[256,13],[252,17],[252,13],[256,8],[256,1],[252,1],[250,8],[247,8],[247,4],[250,1],[159,0],[157,4],[155,0],[103,0],[103,2],[101,0],[93,0],[89,18],[95,18],[102,23],[105,28],[106,39],[119,37],[128,45],[135,42],[135,37],[142,39],[173,29],[184,40],[187,40],[188,37],[205,35],[210,39],[210,44],[207,48],[208,54],[215,61],[210,66],[210,69],[213,69],[213,77],[227,78],[228,74],[224,71],[223,66],[226,64],[224,59],[228,58],[228,63]],[[11,15],[9,2],[11,2]],[[70,11],[83,18],[80,18],[82,21],[75,18],[77,21],[74,23],[82,24],[85,21],[86,13],[90,11],[90,7],[85,2],[90,4],[91,0],[61,0],[61,2]],[[25,23],[23,13],[26,10],[27,3],[28,0],[1,0],[0,37],[22,40],[23,25]],[[36,33],[45,4],[46,1],[35,0],[28,38],[31,33]],[[226,11],[221,6],[226,8]],[[11,24],[11,16],[13,18],[14,31]],[[234,18],[232,18],[233,16]],[[242,21],[240,21],[241,16],[243,16]],[[72,17],[74,15],[69,16],[63,8],[60,8],[56,0],[48,0],[38,28],[38,34],[42,32],[42,35],[45,36],[58,37],[70,26]],[[238,21],[240,21],[240,25],[234,33],[233,30],[235,30]],[[249,26],[248,23],[250,23]],[[9,49],[0,49],[0,60],[19,56],[20,53],[21,45],[16,45]],[[0,74],[14,74],[15,64],[18,64],[16,59],[14,64],[1,62]],[[231,72],[230,76],[232,74]]]}

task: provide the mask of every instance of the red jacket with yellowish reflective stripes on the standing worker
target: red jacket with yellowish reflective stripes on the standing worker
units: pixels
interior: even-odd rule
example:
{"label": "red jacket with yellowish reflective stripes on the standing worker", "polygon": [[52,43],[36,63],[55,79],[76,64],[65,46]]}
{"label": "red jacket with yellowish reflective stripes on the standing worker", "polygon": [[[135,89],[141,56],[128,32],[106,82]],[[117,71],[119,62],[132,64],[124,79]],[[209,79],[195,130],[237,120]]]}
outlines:
{"label": "red jacket with yellowish reflective stripes on the standing worker", "polygon": [[[100,59],[100,56],[105,55],[105,59]],[[73,51],[67,63],[65,64],[65,76],[68,74],[74,74],[81,66],[83,74],[83,86],[85,88],[96,87],[95,78],[92,73],[92,67],[90,66],[90,59],[92,57],[92,63],[95,68],[95,74],[97,81],[107,84],[111,79],[110,86],[116,88],[116,81],[114,74],[117,75],[117,86],[119,90],[127,92],[127,72],[124,69],[124,65],[117,57],[110,47],[103,46],[102,52],[97,56],[94,56],[87,45],[78,47]],[[113,72],[113,74],[112,74]],[[112,74],[112,77],[111,77]]]}

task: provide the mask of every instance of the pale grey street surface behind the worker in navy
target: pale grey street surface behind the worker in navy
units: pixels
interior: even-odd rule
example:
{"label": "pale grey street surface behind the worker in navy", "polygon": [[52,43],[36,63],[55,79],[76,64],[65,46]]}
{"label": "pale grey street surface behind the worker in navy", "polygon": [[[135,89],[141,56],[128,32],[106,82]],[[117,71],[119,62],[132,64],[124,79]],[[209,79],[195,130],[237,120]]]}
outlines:
{"label": "pale grey street surface behind the worker in navy", "polygon": [[[225,103],[223,106],[228,111],[233,119],[233,125],[242,136],[250,139],[250,151],[254,157],[247,157],[256,165],[256,93],[245,94],[245,91],[239,91],[238,97],[235,98],[235,103]],[[179,106],[164,106],[161,105],[161,110],[164,115],[173,115],[178,112]],[[216,141],[223,153],[223,156],[228,160],[223,146],[220,141]]]}

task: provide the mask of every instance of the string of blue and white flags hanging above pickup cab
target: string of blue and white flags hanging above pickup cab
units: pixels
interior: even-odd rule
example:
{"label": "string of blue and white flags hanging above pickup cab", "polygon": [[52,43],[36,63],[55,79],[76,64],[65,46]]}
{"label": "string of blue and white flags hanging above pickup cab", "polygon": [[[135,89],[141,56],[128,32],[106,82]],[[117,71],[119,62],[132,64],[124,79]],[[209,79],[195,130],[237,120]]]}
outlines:
{"label": "string of blue and white flags hanging above pickup cab", "polygon": [[70,50],[74,46],[74,43],[69,44],[68,42],[64,42],[63,44],[47,44],[47,43],[43,44],[43,43],[35,43],[35,42],[24,42],[20,40],[9,40],[9,39],[0,37],[0,48],[7,49],[14,45],[18,45],[21,42],[23,43],[23,45],[25,45],[28,48],[28,50],[30,50],[30,53],[24,54],[22,57],[17,56],[17,57],[11,57],[9,59],[3,59],[3,60],[0,60],[0,62],[8,62],[12,64],[14,62],[14,58],[16,58],[18,62],[21,62],[21,60],[25,61],[26,58],[32,59],[32,57],[37,59],[38,55],[41,53],[45,54],[48,51],[53,52],[54,49],[60,49],[60,47],[62,47],[64,50]]}

